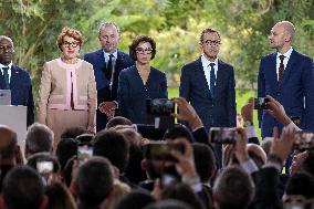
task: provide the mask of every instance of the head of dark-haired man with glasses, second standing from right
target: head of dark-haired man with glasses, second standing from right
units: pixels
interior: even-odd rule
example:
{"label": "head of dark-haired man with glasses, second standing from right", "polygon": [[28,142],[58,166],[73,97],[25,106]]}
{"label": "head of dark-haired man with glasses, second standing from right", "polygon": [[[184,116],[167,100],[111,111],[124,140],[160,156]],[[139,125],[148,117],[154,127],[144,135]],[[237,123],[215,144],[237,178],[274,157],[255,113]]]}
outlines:
{"label": "head of dark-haired man with glasses, second standing from right", "polygon": [[210,61],[214,61],[219,54],[220,50],[220,34],[218,31],[207,28],[200,34],[199,45],[203,52],[203,54]]}

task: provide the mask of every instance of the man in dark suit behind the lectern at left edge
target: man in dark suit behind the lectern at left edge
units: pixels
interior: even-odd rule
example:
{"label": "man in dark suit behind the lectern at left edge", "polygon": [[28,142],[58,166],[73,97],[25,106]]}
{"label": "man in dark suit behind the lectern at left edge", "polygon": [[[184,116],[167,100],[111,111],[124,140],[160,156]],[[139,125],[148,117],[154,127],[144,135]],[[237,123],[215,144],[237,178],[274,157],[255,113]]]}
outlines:
{"label": "man in dark suit behind the lectern at left edge", "polygon": [[13,41],[0,35],[0,90],[11,90],[11,104],[28,107],[28,126],[34,123],[34,102],[30,74],[12,63]]}

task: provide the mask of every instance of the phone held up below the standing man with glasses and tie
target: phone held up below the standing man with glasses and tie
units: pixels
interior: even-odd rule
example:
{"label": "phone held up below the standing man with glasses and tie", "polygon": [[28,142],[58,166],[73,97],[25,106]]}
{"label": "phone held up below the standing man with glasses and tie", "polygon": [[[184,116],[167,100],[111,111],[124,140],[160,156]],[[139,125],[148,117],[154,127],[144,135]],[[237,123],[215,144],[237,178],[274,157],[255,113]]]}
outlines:
{"label": "phone held up below the standing man with glasses and tie", "polygon": [[236,136],[236,128],[212,127],[209,133],[209,142],[216,144],[234,144]]}

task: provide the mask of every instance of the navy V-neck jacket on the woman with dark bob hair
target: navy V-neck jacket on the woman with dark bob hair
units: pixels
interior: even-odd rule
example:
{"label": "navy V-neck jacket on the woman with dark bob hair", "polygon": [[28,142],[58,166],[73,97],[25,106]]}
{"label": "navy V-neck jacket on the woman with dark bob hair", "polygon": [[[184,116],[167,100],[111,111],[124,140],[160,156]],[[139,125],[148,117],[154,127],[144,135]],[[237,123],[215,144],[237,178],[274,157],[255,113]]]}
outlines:
{"label": "navy V-neck jacket on the woman with dark bob hair", "polygon": [[166,74],[150,67],[146,85],[144,85],[136,66],[121,72],[118,79],[118,104],[122,116],[134,124],[149,124],[147,117],[147,98],[167,98]]}

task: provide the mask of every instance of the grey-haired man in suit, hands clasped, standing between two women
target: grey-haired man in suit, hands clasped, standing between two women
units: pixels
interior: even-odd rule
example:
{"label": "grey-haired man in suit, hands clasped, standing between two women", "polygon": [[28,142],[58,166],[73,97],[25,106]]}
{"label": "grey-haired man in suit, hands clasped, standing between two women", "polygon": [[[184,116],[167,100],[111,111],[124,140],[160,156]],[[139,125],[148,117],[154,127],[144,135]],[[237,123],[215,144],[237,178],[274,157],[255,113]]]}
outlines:
{"label": "grey-haired man in suit, hands clasped, standing between two women", "polygon": [[97,88],[98,109],[96,112],[97,132],[105,128],[117,108],[118,75],[123,69],[134,65],[128,54],[117,50],[119,28],[114,22],[104,22],[98,34],[102,50],[84,55],[84,60],[93,64]]}

